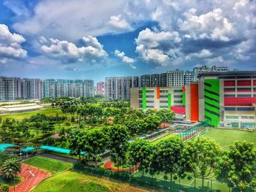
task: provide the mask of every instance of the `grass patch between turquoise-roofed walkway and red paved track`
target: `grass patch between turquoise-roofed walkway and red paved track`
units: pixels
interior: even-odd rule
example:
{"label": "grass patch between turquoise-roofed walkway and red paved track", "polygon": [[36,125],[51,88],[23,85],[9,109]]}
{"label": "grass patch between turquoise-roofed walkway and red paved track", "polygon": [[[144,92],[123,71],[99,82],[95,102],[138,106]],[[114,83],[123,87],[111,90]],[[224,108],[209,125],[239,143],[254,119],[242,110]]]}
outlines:
{"label": "grass patch between turquoise-roofed walkway and red paved track", "polygon": [[51,158],[41,157],[41,156],[35,156],[33,158],[29,158],[28,160],[24,161],[24,164],[35,166],[39,169],[44,169],[45,171],[48,171],[51,174],[57,174],[66,169],[72,168],[72,164],[53,160]]}

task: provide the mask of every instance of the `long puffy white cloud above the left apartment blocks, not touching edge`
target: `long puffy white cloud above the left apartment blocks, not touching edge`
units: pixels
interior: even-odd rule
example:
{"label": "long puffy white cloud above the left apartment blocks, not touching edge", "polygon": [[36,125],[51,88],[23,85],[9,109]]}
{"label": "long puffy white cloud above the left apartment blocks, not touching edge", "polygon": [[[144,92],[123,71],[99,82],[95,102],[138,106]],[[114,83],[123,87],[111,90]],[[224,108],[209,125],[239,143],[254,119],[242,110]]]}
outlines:
{"label": "long puffy white cloud above the left apartment blocks, not touching edge", "polygon": [[104,60],[108,53],[103,49],[96,37],[87,36],[82,38],[85,46],[77,47],[72,42],[61,41],[59,39],[45,39],[39,37],[42,44],[41,50],[52,58],[60,58],[67,63],[75,63],[80,61],[100,61]]}

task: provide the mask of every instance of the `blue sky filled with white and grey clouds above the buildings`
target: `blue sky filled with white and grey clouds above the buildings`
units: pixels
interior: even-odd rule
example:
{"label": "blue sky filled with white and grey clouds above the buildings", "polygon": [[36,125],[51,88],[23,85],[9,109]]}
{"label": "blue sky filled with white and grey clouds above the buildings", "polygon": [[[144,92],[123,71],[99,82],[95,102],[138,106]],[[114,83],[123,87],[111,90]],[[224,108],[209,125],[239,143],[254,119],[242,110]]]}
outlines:
{"label": "blue sky filled with white and grey clouds above the buildings", "polygon": [[2,0],[0,76],[256,70],[256,0]]}

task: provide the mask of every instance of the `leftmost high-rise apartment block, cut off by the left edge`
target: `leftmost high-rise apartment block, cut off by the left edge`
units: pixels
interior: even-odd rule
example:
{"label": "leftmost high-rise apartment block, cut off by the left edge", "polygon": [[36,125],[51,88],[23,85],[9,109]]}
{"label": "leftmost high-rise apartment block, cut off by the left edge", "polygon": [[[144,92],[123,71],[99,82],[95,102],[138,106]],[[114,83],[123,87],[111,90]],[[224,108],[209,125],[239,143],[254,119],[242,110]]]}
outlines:
{"label": "leftmost high-rise apartment block, cut off by the left edge", "polygon": [[0,77],[0,100],[20,99],[21,82],[19,77]]}

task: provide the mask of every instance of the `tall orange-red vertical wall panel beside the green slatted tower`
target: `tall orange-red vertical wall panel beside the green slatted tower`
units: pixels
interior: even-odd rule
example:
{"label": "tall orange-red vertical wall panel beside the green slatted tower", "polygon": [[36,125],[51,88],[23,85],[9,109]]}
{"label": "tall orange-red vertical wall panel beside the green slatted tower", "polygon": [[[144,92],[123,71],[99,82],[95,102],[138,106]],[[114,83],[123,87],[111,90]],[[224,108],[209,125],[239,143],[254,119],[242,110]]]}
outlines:
{"label": "tall orange-red vertical wall panel beside the green slatted tower", "polygon": [[191,99],[191,120],[199,120],[198,110],[198,85],[190,85],[190,99]]}

